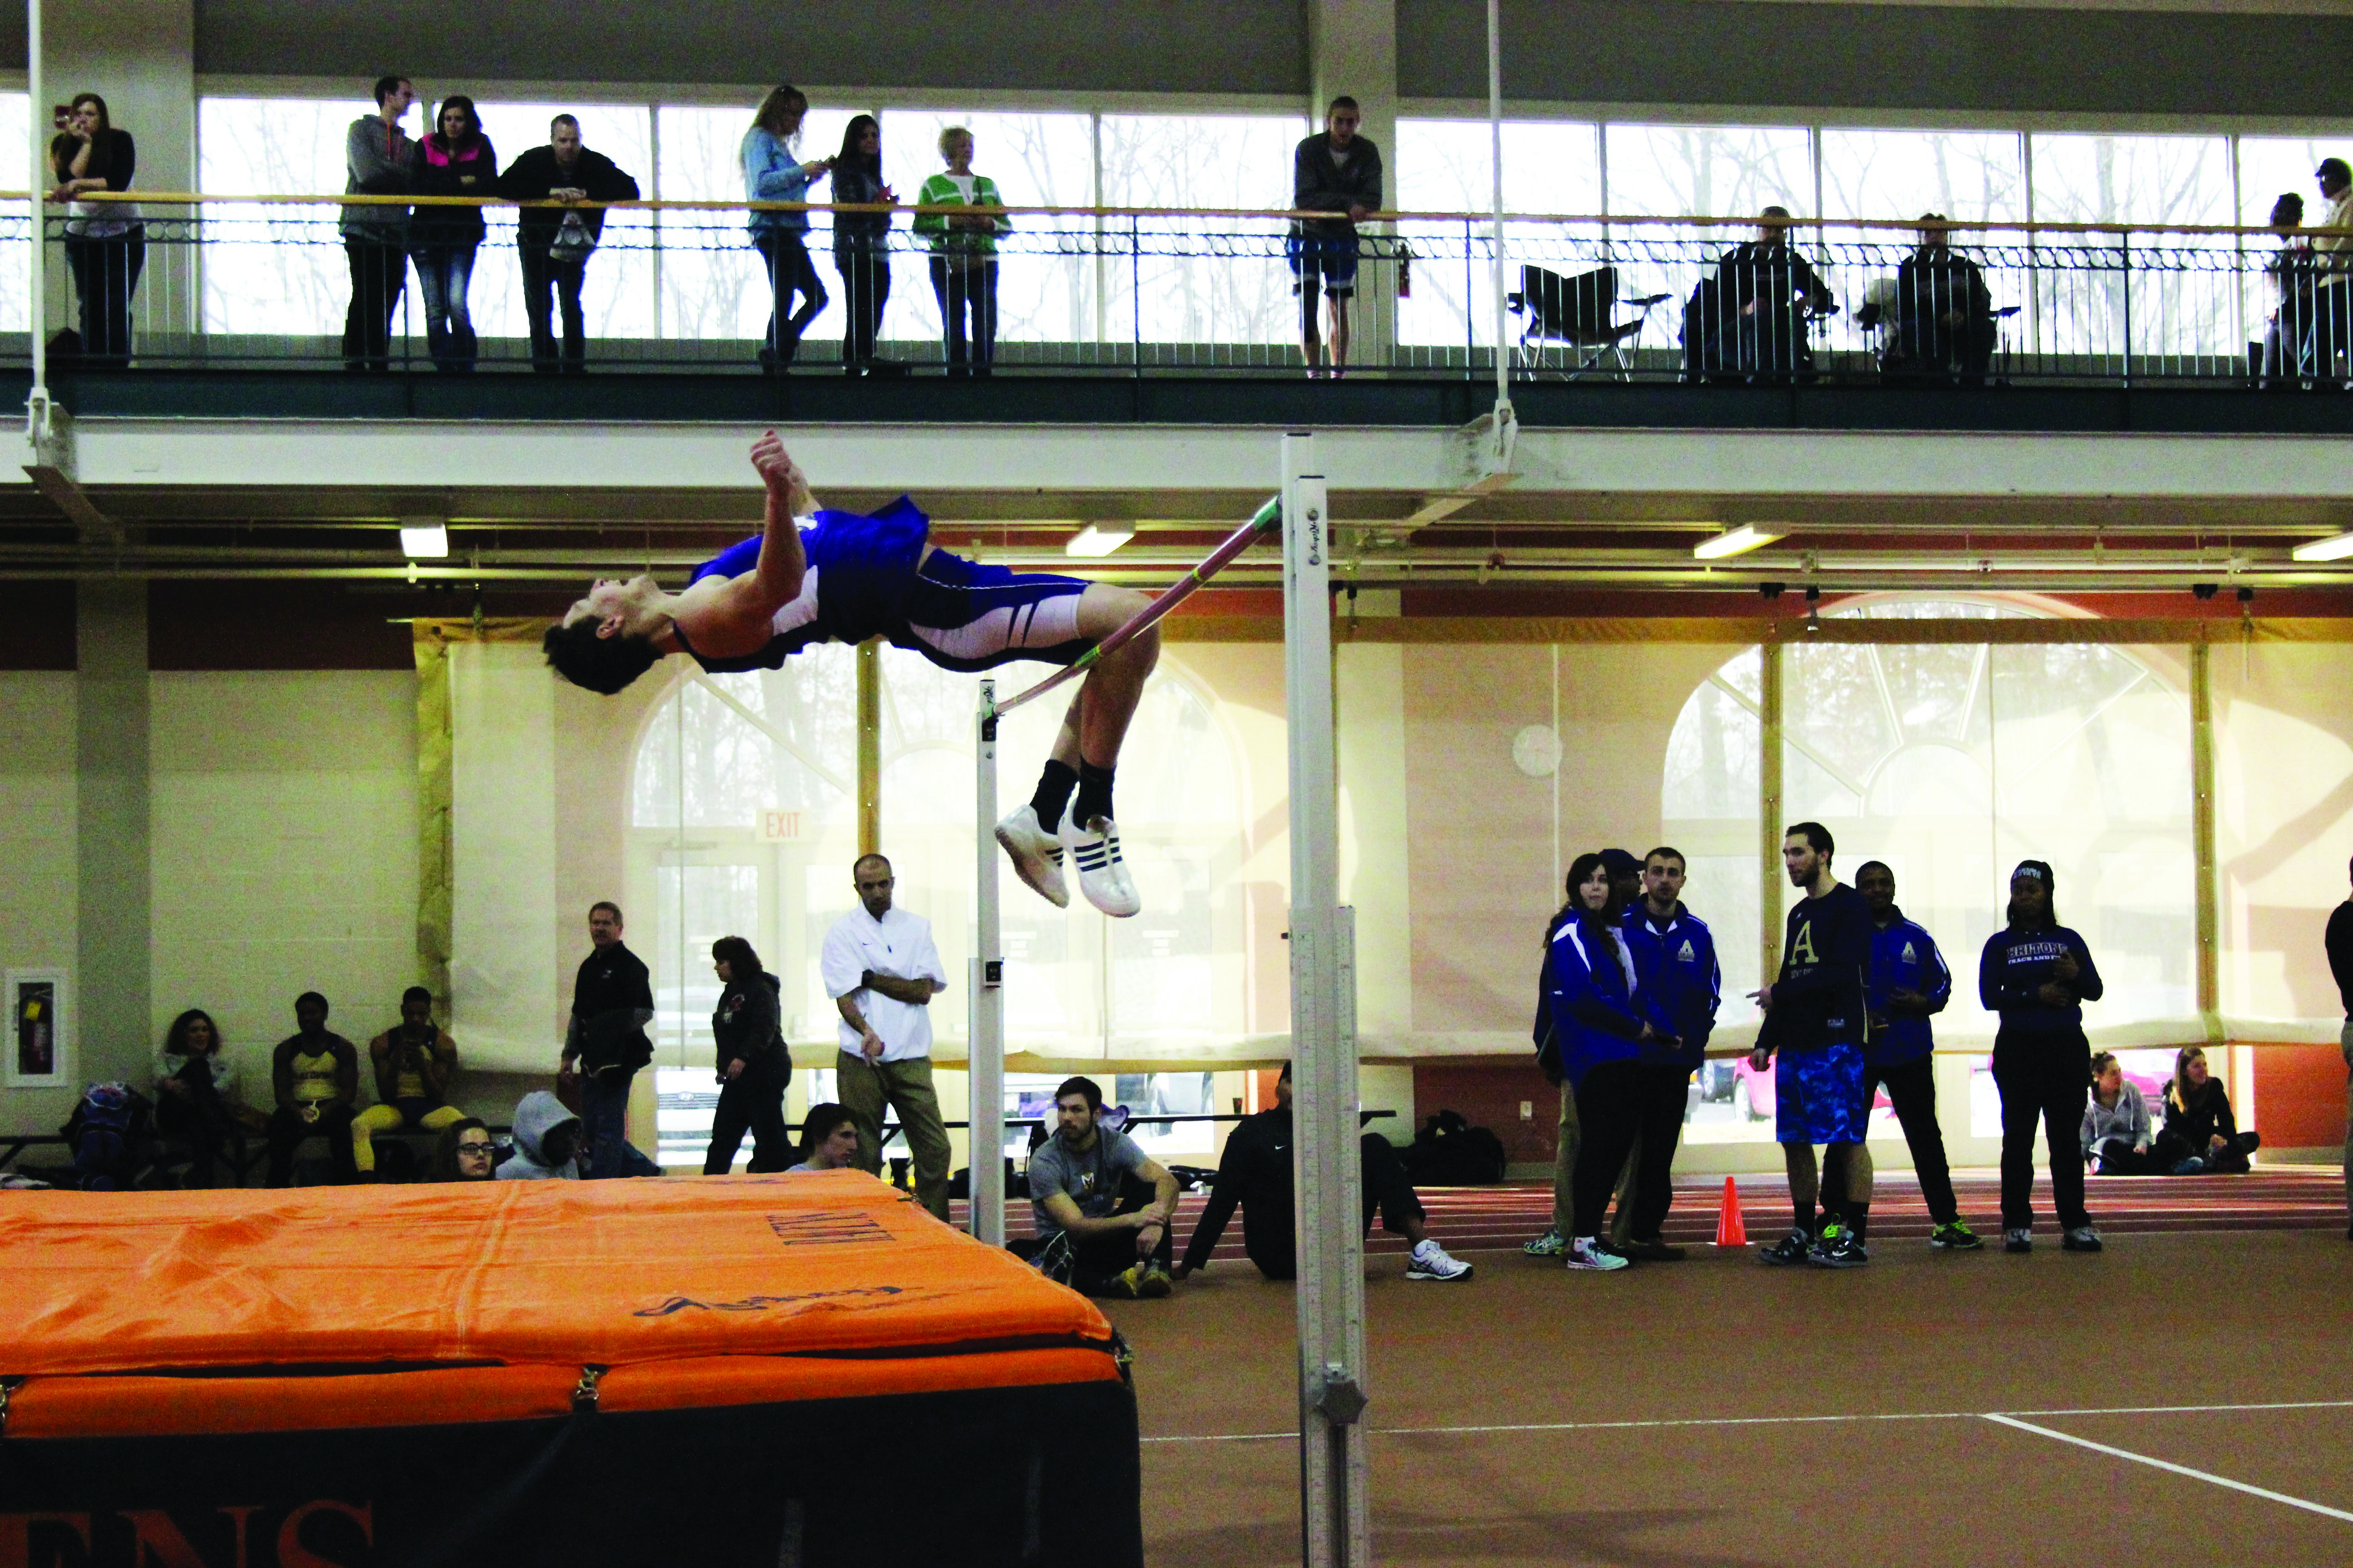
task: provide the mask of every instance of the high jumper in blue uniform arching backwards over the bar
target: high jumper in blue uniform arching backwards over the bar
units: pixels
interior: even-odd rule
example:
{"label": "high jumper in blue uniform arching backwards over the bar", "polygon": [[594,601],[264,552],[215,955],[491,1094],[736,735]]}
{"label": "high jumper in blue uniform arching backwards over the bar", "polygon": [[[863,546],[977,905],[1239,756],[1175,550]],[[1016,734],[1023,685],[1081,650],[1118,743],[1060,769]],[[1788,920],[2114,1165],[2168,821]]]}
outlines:
{"label": "high jumper in blue uniform arching backwards over the bar", "polygon": [[[544,646],[558,675],[609,696],[664,654],[687,654],[713,672],[776,670],[809,644],[868,637],[941,670],[993,670],[1014,658],[1066,665],[1151,604],[1132,588],[951,555],[929,541],[932,520],[906,496],[873,517],[819,510],[774,430],[753,444],[751,461],[767,484],[760,536],[696,567],[685,592],[664,592],[652,576],[593,583],[548,628]],[[809,529],[793,524],[805,512],[814,512]],[[1014,875],[1056,907],[1071,903],[1064,856],[1078,863],[1078,886],[1096,910],[1141,907],[1120,858],[1111,773],[1158,658],[1160,635],[1146,630],[1087,670],[1035,797],[998,823]]]}

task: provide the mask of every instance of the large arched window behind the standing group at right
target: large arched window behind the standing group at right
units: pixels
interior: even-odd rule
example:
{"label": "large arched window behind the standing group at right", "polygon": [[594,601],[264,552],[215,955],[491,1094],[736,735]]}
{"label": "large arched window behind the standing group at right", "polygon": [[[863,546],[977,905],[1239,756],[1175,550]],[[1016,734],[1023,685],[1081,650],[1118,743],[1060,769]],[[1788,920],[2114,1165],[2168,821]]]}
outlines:
{"label": "large arched window behind the standing group at right", "polygon": [[[1993,599],[1889,597],[1831,616],[2017,618]],[[2000,924],[2009,867],[2049,860],[2061,919],[2106,978],[2094,1041],[2195,1030],[2188,705],[2108,644],[1798,644],[1784,651],[1781,813],[1819,820],[1838,867],[1897,875],[1906,914],[1953,966],[1946,1039],[1991,1039],[1977,954]],[[1666,839],[1704,875],[1725,959],[1725,1025],[1753,1023],[1760,654],[1729,658],[1685,703],[1661,783]],[[1781,893],[1784,907],[1795,900]],[[1725,1077],[1725,1074],[1718,1074]],[[1734,1070],[1722,1121],[1769,1105]],[[1704,1100],[1706,1105],[1706,1100]],[[1697,1112],[1694,1112],[1697,1119]],[[1991,1135],[1998,1126],[1977,1126]]]}

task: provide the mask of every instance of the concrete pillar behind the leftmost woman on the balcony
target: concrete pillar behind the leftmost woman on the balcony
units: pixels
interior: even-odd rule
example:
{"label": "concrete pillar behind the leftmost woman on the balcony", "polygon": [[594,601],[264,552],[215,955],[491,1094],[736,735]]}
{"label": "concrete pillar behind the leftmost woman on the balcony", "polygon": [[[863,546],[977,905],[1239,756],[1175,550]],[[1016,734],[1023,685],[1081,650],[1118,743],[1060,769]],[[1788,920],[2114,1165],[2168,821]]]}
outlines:
{"label": "concrete pillar behind the leftmost woman on the balcony", "polygon": [[[49,103],[78,92],[106,99],[115,129],[139,143],[134,190],[195,188],[195,0],[87,0],[45,5]],[[33,106],[33,136],[49,139],[49,103]],[[195,244],[181,240],[188,207],[146,205],[148,252],[132,306],[136,341],[186,334],[202,313]],[[162,219],[181,219],[165,223]],[[73,282],[52,252],[49,329],[71,322]]]}

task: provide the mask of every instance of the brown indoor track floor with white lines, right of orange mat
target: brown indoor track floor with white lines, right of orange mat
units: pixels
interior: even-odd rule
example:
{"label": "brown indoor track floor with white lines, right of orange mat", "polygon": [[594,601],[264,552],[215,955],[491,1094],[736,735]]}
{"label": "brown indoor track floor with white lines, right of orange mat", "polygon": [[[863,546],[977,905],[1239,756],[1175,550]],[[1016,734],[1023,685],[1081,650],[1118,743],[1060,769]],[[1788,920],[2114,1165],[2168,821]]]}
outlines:
{"label": "brown indoor track floor with white lines, right of orange mat", "polygon": [[[1478,1265],[1367,1260],[1374,1552],[1384,1563],[1765,1568],[2353,1563],[2353,1244],[2334,1168],[2092,1182],[2108,1237],[1927,1246],[1880,1175],[1866,1269],[1767,1269],[1678,1192],[1687,1262],[1525,1258],[1548,1192],[1424,1194]],[[1741,1178],[1751,1241],[1786,1227]],[[1195,1201],[1188,1194],[1186,1208]],[[2047,1194],[2038,1192],[2047,1215]],[[1191,1234],[1191,1213],[1179,1218]],[[1292,1286],[1219,1262],[1108,1302],[1136,1352],[1153,1563],[1297,1563]]]}

